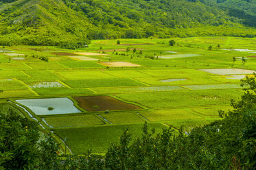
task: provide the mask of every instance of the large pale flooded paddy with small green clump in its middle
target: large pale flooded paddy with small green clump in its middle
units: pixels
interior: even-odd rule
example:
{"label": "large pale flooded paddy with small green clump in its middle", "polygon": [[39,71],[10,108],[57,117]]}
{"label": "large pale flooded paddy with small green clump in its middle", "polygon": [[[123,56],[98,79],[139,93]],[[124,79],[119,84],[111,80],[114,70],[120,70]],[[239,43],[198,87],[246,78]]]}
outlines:
{"label": "large pale flooded paddy with small green clump in its middle", "polygon": [[[73,102],[67,98],[49,99],[21,99],[16,100],[19,104],[30,108],[36,115],[68,114],[81,112],[73,106]],[[52,110],[51,110],[52,109]]]}

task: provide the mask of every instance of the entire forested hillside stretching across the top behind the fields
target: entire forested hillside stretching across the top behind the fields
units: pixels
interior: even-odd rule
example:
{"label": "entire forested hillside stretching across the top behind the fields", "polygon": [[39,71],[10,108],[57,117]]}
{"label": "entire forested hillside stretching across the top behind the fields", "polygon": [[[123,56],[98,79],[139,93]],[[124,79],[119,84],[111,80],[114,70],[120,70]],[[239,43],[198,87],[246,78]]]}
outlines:
{"label": "entire forested hillside stretching across the top behind the fields", "polygon": [[1,45],[256,35],[255,0],[0,0]]}

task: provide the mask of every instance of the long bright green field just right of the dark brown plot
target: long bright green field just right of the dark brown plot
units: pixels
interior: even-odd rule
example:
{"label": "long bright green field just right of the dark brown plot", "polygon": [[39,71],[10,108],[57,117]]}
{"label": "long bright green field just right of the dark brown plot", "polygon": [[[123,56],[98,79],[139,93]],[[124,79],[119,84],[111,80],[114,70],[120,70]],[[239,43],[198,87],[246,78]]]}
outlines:
{"label": "long bright green field just right of the dark brown plot", "polygon": [[239,99],[240,90],[185,90],[154,93],[126,93],[117,97],[135,101],[148,108],[179,108],[230,104],[230,99]]}

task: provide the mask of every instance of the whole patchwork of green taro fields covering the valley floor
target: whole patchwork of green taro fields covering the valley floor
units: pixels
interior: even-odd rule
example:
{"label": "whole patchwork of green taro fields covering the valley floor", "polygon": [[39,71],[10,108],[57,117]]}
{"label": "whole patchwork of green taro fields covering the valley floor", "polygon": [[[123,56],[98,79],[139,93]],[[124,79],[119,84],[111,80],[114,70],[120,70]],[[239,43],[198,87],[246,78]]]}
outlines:
{"label": "whole patchwork of green taro fields covering the valley floor", "polygon": [[[93,40],[76,50],[0,47],[11,51],[0,53],[0,110],[38,121],[75,154],[105,154],[124,130],[140,136],[145,121],[156,132],[187,132],[220,120],[218,110],[232,109],[230,100],[243,93],[240,80],[256,70],[256,38],[169,40]],[[80,111],[62,109],[61,97]],[[30,103],[50,98],[54,103]],[[16,101],[23,99],[31,100]]]}

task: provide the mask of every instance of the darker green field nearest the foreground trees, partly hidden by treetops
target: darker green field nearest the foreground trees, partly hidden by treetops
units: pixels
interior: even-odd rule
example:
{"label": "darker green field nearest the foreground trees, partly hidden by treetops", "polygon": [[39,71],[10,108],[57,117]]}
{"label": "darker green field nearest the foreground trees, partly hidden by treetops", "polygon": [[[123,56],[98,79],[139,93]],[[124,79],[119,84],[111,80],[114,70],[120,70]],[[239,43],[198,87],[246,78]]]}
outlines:
{"label": "darker green field nearest the foreground trees, partly hidden by treetops", "polygon": [[[119,136],[128,129],[132,137],[141,136],[143,123],[132,125],[108,125],[99,127],[72,128],[54,131],[60,138],[67,138],[67,145],[74,154],[85,154],[88,149],[93,153],[106,153],[111,143],[118,143]],[[155,129],[161,132],[165,125],[161,123],[150,123],[149,130]]]}

